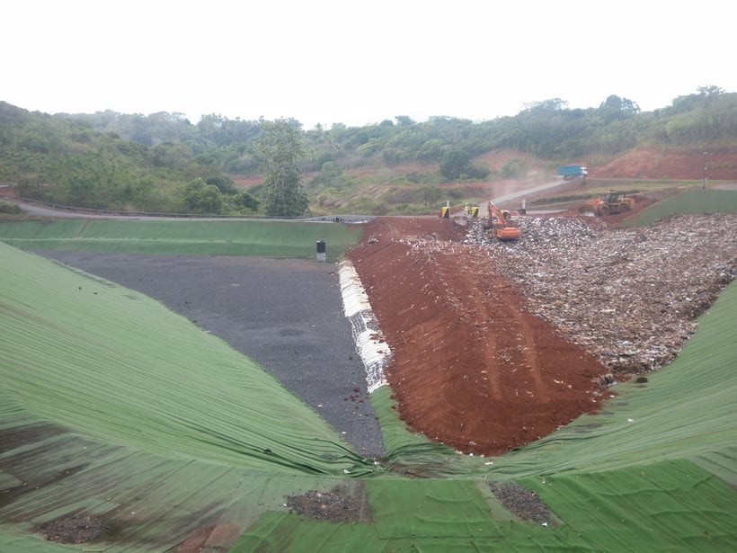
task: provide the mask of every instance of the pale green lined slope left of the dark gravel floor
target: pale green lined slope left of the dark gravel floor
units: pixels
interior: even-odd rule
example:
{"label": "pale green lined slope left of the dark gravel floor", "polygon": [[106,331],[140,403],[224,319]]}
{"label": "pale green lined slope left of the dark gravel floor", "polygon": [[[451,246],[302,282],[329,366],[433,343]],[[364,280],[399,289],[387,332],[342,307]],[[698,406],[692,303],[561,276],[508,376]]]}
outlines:
{"label": "pale green lined slope left of the dark gravel floor", "polygon": [[176,459],[370,470],[253,361],[137,292],[0,244],[0,429],[29,413]]}

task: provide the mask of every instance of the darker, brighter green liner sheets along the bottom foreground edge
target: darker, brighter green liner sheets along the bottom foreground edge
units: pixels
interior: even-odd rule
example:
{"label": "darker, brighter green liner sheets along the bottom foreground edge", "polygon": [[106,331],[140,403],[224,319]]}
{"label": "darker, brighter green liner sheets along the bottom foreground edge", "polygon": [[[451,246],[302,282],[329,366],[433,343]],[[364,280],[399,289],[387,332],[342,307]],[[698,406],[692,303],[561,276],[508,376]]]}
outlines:
{"label": "darker, brighter green liner sheets along the bottom foreground edge", "polygon": [[503,513],[484,480],[366,482],[373,520],[333,524],[267,513],[246,551],[729,551],[737,495],[688,461],[525,478],[556,522]]}

